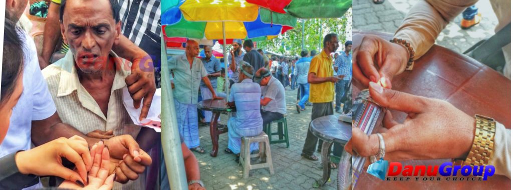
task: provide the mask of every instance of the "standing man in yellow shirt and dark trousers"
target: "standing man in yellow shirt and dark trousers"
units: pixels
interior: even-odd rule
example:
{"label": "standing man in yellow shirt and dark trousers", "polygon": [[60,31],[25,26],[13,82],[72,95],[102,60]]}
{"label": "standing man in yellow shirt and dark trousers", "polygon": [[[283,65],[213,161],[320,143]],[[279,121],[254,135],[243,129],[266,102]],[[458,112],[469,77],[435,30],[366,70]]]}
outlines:
{"label": "standing man in yellow shirt and dark trousers", "polygon": [[[339,48],[337,34],[327,34],[324,36],[324,48],[322,52],[315,55],[310,62],[308,83],[310,83],[309,101],[313,103],[312,120],[333,115],[335,83],[343,78],[343,76],[333,76],[333,61],[329,54],[335,52],[337,48]],[[317,141],[319,141],[319,145],[322,144],[322,141],[315,137],[312,132],[310,132],[310,129],[308,129],[301,156],[308,160],[319,160],[319,158],[313,155]]]}

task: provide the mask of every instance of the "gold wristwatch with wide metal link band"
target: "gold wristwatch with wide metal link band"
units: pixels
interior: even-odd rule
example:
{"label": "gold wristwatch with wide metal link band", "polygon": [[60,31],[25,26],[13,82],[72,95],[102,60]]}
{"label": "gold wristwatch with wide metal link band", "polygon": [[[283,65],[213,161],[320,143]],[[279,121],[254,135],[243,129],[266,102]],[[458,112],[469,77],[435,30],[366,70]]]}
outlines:
{"label": "gold wristwatch with wide metal link band", "polygon": [[455,160],[455,165],[487,165],[494,153],[495,120],[481,115],[475,115],[476,134],[472,148],[465,160]]}

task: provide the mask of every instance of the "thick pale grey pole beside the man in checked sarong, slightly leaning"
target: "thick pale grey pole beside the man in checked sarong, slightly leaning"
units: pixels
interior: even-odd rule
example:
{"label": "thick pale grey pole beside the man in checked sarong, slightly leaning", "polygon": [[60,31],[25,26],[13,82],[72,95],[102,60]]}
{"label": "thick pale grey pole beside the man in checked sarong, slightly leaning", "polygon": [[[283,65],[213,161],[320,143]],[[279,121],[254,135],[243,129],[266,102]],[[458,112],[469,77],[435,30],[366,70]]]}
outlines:
{"label": "thick pale grey pole beside the man in checked sarong, slightly leaning", "polygon": [[[162,60],[162,133],[161,142],[166,163],[167,177],[171,189],[187,189],[187,177],[185,176],[185,164],[182,154],[182,143],[176,123],[176,110],[174,108],[173,90],[170,84],[170,71],[167,64],[166,43],[161,32],[161,60]],[[159,158],[160,159],[160,158]],[[160,168],[160,166],[159,166]]]}

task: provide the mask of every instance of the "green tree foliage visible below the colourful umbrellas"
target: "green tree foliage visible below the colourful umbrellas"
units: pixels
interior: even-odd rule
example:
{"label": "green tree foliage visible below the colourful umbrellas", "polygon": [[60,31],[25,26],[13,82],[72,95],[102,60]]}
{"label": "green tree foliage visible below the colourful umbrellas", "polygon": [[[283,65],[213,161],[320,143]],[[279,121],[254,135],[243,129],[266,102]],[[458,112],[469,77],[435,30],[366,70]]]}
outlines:
{"label": "green tree foliage visible below the colourful umbrellas", "polygon": [[258,48],[284,55],[299,55],[301,52],[303,22],[305,22],[305,49],[315,49],[319,52],[322,49],[324,35],[328,33],[338,34],[339,42],[342,46],[346,41],[346,36],[351,32],[351,27],[347,27],[352,19],[351,9],[340,18],[298,19],[298,24],[294,29],[285,32],[285,34],[275,39],[258,42]]}

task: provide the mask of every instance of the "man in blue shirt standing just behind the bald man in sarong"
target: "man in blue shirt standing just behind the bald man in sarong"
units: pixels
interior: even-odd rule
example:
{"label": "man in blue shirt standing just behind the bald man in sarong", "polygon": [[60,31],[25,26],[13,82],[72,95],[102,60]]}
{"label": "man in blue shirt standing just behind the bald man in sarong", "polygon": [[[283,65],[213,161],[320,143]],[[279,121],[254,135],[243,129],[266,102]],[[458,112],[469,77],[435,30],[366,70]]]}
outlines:
{"label": "man in blue shirt standing just behind the bald man in sarong", "polygon": [[[207,70],[207,77],[210,80],[210,84],[212,85],[213,89],[218,88],[218,77],[221,76],[221,62],[212,56],[212,47],[205,46],[203,48],[205,50],[205,58],[201,59],[201,62],[203,62],[203,66]],[[220,84],[223,85],[223,84]],[[212,92],[208,89],[207,85],[202,81],[200,84],[200,90],[201,90],[201,98],[203,100],[212,99]],[[205,111],[205,122],[208,124],[210,122],[210,119],[212,117],[211,111]]]}

